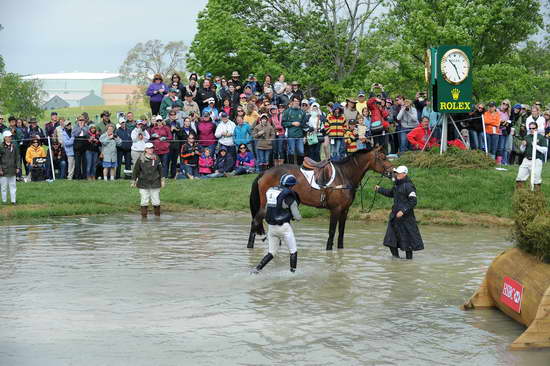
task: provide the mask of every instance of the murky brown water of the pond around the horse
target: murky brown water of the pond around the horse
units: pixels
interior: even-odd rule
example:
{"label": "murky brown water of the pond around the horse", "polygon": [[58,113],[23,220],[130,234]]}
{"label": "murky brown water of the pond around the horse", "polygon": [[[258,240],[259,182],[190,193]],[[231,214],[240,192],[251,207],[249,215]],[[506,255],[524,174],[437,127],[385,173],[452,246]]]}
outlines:
{"label": "murky brown water of the pond around the horse", "polygon": [[548,365],[510,352],[524,327],[459,310],[506,231],[421,227],[412,262],[351,222],[299,223],[288,253],[248,273],[245,215],[64,218],[0,227],[0,365]]}

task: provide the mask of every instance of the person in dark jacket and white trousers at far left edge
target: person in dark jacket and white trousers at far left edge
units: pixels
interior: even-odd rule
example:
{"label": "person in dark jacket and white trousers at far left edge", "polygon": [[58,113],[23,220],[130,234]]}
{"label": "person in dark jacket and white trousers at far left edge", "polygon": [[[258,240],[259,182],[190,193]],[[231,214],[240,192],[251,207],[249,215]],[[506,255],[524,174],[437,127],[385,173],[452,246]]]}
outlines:
{"label": "person in dark jacket and white trousers at far left edge", "polygon": [[12,133],[9,130],[2,134],[4,142],[0,144],[0,190],[2,203],[8,201],[8,187],[11,203],[15,205],[16,181],[15,176],[20,171],[19,150],[12,143]]}

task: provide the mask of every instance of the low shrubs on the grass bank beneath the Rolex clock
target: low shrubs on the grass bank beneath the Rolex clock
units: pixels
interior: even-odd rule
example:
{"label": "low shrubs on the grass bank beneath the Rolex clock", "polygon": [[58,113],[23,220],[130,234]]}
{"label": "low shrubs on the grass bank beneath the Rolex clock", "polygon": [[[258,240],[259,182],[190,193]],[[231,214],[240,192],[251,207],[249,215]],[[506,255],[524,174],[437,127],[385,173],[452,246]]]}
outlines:
{"label": "low shrubs on the grass bank beneath the Rolex clock", "polygon": [[416,168],[448,168],[448,169],[488,169],[495,166],[491,159],[479,150],[461,150],[450,147],[443,155],[439,149],[424,152],[409,151],[396,162],[399,165]]}

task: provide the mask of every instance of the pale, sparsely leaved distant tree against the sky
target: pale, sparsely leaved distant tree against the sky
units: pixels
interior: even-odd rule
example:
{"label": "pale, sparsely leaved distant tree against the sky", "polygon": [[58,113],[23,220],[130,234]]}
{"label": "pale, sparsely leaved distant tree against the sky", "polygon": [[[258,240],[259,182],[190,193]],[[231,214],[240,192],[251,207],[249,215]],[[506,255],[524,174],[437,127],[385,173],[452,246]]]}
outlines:
{"label": "pale, sparsely leaved distant tree against the sky", "polygon": [[164,77],[178,70],[185,70],[185,53],[187,47],[183,42],[168,42],[166,45],[159,40],[138,43],[126,56],[120,67],[120,74],[138,85],[147,85],[154,74]]}

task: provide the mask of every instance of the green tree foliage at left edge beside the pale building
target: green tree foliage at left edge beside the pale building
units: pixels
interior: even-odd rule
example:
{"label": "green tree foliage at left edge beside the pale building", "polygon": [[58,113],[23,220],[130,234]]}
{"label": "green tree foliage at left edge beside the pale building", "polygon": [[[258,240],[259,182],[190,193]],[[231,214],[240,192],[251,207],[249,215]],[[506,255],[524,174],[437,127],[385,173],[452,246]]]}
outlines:
{"label": "green tree foliage at left edge beside the pale building", "polygon": [[37,80],[23,80],[14,73],[0,73],[0,111],[20,117],[40,117],[42,89]]}

